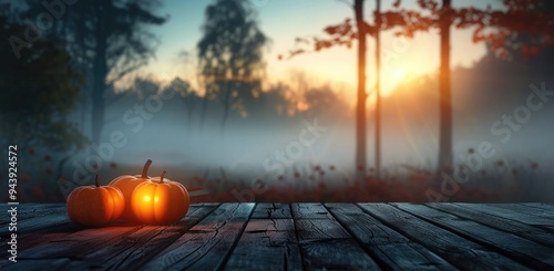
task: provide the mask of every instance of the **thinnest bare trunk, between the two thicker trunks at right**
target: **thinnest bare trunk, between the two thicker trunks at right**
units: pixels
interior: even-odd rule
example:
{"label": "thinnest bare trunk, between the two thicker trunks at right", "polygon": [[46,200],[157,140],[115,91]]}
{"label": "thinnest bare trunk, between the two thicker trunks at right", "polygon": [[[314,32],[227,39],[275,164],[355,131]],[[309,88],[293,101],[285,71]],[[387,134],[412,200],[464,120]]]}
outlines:
{"label": "thinnest bare trunk, between the two thicker trunks at right", "polygon": [[376,0],[376,178],[381,173],[381,0]]}

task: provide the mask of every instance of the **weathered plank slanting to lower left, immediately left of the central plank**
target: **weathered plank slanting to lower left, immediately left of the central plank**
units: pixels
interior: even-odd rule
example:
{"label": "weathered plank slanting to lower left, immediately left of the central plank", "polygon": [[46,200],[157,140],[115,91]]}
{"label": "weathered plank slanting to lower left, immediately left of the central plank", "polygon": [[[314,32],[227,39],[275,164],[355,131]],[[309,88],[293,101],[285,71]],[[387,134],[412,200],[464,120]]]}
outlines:
{"label": "weathered plank slanting to lower left, immediately left of the central plank", "polygon": [[223,267],[243,233],[255,204],[224,204],[191,228],[145,270],[215,270]]}

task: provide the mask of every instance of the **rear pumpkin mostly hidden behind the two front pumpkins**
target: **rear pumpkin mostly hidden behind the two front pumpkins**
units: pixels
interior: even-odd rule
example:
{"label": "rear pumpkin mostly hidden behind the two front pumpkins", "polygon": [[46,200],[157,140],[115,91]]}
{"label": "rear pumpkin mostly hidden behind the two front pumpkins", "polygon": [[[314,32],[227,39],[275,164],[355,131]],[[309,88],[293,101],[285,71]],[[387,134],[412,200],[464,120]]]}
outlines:
{"label": "rear pumpkin mostly hidden behind the two front pumpkins", "polygon": [[110,186],[116,187],[121,190],[123,194],[123,197],[125,198],[125,210],[123,211],[122,218],[127,220],[127,221],[135,221],[136,218],[133,216],[133,210],[131,209],[131,196],[133,195],[133,191],[135,190],[136,186],[144,183],[148,181],[150,183],[150,177],[148,177],[148,168],[150,165],[152,165],[152,160],[148,159],[145,164],[144,167],[142,168],[142,175],[123,175],[110,183]]}

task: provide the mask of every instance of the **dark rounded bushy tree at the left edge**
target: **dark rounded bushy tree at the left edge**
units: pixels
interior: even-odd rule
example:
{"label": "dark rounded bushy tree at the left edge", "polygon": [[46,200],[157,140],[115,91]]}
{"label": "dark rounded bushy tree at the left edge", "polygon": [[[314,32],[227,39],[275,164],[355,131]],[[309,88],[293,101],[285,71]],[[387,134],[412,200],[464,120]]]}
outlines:
{"label": "dark rounded bushy tree at the left edge", "polygon": [[[27,25],[0,17],[1,37],[22,33]],[[18,143],[65,153],[86,143],[64,117],[74,107],[82,75],[70,69],[63,48],[47,41],[33,43],[19,60],[8,42],[0,43],[0,134],[4,145]]]}

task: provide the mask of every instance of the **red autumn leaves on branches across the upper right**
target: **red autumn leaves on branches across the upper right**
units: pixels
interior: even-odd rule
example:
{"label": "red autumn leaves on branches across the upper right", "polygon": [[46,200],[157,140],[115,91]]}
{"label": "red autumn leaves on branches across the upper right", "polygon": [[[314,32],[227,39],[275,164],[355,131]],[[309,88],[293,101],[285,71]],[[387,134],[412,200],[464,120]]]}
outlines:
{"label": "red autumn leaves on branches across the upper right", "polygon": [[[396,35],[412,38],[417,32],[428,32],[439,27],[439,19],[449,20],[458,29],[475,28],[473,42],[489,42],[496,55],[507,58],[507,49],[519,49],[524,59],[536,55],[542,48],[554,44],[554,11],[544,11],[541,0],[504,0],[505,10],[492,10],[490,7],[449,9],[443,11],[437,0],[418,0],[423,12],[400,8],[401,0],[396,0],[393,10],[375,13],[379,23],[361,22],[357,28],[363,28],[373,35],[379,31],[394,29]],[[448,12],[447,14],[442,12]],[[296,39],[297,48],[288,52],[288,59],[307,52],[317,52],[332,46],[351,48],[358,39],[357,29],[351,19],[324,28],[325,37]],[[530,41],[514,41],[513,34],[527,34]],[[308,48],[305,48],[305,46]],[[309,49],[311,48],[311,49]],[[279,55],[279,60],[283,55]]]}

